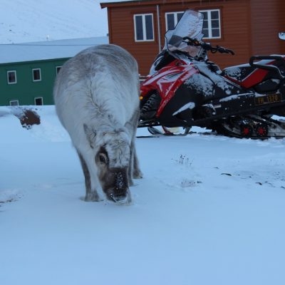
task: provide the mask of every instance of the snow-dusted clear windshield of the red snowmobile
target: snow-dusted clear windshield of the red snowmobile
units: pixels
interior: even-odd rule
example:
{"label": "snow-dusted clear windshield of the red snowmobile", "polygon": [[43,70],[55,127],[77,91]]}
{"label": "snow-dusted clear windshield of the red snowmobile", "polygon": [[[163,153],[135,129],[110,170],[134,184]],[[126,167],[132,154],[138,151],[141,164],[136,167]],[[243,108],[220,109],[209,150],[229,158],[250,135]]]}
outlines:
{"label": "snow-dusted clear windshield of the red snowmobile", "polygon": [[197,11],[187,10],[173,30],[165,33],[165,48],[167,51],[186,51],[190,56],[197,56],[201,47],[188,46],[183,42],[185,36],[201,40],[203,37],[204,16]]}

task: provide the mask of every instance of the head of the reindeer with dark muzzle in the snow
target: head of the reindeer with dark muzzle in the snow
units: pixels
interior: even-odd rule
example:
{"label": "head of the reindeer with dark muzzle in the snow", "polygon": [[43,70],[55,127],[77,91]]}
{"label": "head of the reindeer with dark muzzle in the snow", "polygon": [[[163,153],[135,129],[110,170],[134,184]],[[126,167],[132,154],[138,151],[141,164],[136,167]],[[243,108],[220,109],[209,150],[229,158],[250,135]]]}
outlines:
{"label": "head of the reindeer with dark muzzle in the snow", "polygon": [[84,125],[84,129],[93,149],[98,178],[106,197],[116,203],[130,202],[130,138],[125,128],[95,132]]}

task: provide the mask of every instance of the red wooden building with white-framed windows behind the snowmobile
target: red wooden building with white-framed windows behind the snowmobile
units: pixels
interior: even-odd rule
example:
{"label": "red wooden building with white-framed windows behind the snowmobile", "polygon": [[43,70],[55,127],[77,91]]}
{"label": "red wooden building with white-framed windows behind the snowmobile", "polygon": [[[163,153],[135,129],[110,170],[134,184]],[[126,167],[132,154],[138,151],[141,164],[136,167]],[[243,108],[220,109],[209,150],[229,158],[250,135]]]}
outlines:
{"label": "red wooden building with white-framed windows behind the snowmobile", "polygon": [[146,76],[186,9],[204,14],[204,40],[232,48],[235,56],[209,54],[221,68],[247,63],[252,55],[285,54],[278,33],[285,30],[284,0],[140,0],[101,3],[108,9],[110,43],[123,46]]}

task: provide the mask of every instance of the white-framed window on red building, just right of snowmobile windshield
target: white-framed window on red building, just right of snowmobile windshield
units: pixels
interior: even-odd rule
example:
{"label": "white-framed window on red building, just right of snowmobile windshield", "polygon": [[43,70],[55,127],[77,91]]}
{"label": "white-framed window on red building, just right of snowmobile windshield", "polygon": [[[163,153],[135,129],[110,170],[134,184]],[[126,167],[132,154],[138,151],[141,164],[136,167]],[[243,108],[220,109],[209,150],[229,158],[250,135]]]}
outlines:
{"label": "white-framed window on red building, just right of snowmobile windshield", "polygon": [[219,10],[199,11],[204,15],[203,32],[204,38],[221,37],[221,21]]}

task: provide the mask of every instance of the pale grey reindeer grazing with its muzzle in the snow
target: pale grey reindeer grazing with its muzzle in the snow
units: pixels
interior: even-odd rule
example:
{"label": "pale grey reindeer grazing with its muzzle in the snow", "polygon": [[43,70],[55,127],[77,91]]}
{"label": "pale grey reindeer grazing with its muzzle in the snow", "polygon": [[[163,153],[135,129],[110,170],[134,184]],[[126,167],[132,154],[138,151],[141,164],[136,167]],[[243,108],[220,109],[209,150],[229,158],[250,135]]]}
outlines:
{"label": "pale grey reindeer grazing with its muzzle in the snow", "polygon": [[135,150],[139,118],[138,64],[115,45],[87,48],[61,68],[53,89],[56,113],[81,161],[86,201],[100,193],[130,203],[142,177]]}

